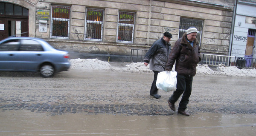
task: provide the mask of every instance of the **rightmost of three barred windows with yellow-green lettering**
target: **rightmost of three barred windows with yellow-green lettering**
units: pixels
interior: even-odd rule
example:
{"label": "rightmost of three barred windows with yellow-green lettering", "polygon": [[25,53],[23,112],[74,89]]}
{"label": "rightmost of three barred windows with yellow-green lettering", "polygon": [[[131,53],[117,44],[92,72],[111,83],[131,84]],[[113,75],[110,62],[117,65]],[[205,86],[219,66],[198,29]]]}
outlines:
{"label": "rightmost of three barred windows with yellow-green lettering", "polygon": [[119,12],[117,42],[133,43],[135,13]]}

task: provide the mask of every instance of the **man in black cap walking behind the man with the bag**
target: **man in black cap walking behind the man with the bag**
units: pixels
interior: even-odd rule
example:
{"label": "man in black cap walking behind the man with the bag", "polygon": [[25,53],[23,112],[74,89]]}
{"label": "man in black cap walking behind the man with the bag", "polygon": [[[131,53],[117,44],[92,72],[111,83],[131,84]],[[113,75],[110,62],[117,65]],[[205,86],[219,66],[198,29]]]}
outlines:
{"label": "man in black cap walking behind the man with the bag", "polygon": [[172,34],[165,32],[161,39],[156,40],[152,44],[151,48],[149,48],[144,57],[145,66],[147,66],[149,63],[149,68],[154,72],[154,80],[151,85],[150,95],[156,99],[161,97],[159,94],[157,94],[157,74],[165,70],[166,62],[171,52],[171,44],[169,43],[171,38]]}

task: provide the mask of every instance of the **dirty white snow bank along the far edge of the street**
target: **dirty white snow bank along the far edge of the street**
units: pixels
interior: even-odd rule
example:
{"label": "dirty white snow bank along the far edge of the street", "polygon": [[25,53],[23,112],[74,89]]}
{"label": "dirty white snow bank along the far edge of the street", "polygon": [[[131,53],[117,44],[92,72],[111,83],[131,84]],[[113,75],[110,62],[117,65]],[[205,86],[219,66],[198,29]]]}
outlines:
{"label": "dirty white snow bank along the far edge of the street", "polygon": [[[122,72],[152,72],[149,65],[145,66],[143,62],[131,63],[122,67],[112,67],[108,62],[99,59],[70,59],[70,69],[75,70],[106,70]],[[175,67],[175,65],[174,65]],[[174,68],[173,68],[174,69]],[[219,65],[215,71],[208,65],[199,65],[196,67],[198,75],[224,75],[228,77],[256,77],[256,69],[239,69],[235,66]]]}

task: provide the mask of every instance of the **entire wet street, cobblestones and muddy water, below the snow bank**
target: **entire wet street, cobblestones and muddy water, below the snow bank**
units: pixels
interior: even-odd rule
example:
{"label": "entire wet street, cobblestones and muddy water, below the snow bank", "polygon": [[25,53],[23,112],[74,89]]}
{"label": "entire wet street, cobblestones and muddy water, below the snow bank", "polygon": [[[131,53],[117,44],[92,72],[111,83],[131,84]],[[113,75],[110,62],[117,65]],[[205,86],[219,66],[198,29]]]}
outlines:
{"label": "entire wet street, cobblestones and muddy water, below the snow bank", "polygon": [[[149,96],[153,73],[0,73],[0,136],[254,136],[256,79],[197,75],[187,111]],[[175,103],[178,106],[178,103]]]}

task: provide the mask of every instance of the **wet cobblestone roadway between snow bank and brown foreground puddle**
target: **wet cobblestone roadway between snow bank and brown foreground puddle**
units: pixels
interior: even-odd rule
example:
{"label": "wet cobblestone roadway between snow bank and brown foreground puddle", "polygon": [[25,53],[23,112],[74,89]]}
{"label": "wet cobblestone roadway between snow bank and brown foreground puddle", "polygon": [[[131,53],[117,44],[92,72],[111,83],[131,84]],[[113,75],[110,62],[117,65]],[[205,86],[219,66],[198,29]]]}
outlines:
{"label": "wet cobblestone roadway between snow bank and brown foreground puddle", "polygon": [[[152,80],[152,73],[110,71],[67,71],[53,78],[4,73],[0,77],[0,111],[28,110],[52,115],[176,114],[167,104],[171,92],[159,91],[161,99],[149,96]],[[187,111],[256,114],[255,82],[255,78],[195,76]]]}

